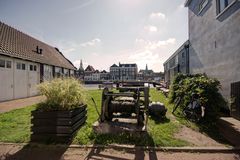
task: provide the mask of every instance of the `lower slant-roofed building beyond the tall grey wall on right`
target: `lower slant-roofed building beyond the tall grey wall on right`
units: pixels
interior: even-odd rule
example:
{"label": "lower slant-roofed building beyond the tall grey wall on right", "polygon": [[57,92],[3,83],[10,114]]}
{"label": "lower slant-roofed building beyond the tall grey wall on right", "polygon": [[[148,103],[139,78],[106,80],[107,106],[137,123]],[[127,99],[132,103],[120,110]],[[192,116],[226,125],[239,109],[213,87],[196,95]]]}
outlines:
{"label": "lower slant-roofed building beyond the tall grey wall on right", "polygon": [[189,41],[186,41],[164,64],[164,80],[170,84],[177,73],[189,73]]}

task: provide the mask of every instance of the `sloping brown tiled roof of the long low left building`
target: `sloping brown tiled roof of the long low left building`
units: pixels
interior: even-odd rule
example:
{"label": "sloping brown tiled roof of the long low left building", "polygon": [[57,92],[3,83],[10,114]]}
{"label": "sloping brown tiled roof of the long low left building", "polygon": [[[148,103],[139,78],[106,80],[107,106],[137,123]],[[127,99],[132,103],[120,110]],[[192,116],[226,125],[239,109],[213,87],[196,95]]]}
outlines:
{"label": "sloping brown tiled roof of the long low left building", "polygon": [[[42,54],[37,53],[37,46],[42,49]],[[74,65],[57,48],[22,33],[1,21],[0,54],[76,70]]]}

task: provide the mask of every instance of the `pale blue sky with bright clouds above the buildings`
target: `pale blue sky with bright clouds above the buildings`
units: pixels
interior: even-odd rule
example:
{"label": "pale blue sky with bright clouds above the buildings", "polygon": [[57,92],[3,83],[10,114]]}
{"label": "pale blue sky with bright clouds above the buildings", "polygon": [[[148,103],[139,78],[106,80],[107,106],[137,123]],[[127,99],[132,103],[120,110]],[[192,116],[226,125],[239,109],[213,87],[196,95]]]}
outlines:
{"label": "pale blue sky with bright clouds above the buildings", "polygon": [[155,72],[188,39],[185,0],[0,0],[0,21],[61,52],[78,68],[146,64]]}

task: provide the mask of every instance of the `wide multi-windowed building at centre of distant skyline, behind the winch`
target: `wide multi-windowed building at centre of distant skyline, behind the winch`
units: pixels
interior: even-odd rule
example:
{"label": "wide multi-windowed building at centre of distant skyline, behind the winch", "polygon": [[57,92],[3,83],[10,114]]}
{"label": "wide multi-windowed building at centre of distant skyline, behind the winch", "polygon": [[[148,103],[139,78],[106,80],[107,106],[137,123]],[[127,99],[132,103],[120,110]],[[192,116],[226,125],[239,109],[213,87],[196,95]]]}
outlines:
{"label": "wide multi-windowed building at centre of distant skyline, behind the winch", "polygon": [[113,64],[110,67],[110,77],[112,80],[136,80],[138,74],[137,64]]}

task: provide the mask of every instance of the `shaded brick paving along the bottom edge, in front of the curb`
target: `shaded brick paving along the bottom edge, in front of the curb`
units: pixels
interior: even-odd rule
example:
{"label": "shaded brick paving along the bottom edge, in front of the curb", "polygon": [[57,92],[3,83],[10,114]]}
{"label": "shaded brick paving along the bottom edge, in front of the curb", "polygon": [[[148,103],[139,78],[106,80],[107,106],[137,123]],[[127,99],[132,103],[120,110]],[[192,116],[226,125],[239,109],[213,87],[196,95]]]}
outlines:
{"label": "shaded brick paving along the bottom edge, in front of the curb", "polygon": [[0,160],[240,160],[239,153],[190,153],[144,151],[141,149],[67,148],[63,146],[24,147],[0,145]]}

